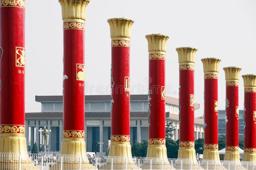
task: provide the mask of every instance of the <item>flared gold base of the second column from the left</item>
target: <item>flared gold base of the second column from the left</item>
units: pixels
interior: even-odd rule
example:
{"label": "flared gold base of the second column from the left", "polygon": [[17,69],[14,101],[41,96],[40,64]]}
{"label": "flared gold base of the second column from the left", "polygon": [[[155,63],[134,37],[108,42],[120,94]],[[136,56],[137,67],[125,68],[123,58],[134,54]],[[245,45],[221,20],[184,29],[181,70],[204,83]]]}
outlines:
{"label": "flared gold base of the second column from the left", "polygon": [[[60,154],[63,155],[63,163],[77,164],[81,157],[82,164],[89,164],[89,160],[86,156],[85,141],[84,138],[63,138],[61,143]],[[65,155],[76,155],[72,159],[65,157]]]}

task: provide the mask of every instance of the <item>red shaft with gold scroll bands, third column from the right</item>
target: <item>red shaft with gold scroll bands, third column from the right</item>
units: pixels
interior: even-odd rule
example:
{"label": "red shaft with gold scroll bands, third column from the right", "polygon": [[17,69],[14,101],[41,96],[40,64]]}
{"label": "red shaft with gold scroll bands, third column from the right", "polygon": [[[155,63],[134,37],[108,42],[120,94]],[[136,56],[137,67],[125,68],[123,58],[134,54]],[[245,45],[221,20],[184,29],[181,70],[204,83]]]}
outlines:
{"label": "red shaft with gold scroll bands, third column from the right", "polygon": [[218,74],[208,75],[204,74],[204,149],[218,149]]}

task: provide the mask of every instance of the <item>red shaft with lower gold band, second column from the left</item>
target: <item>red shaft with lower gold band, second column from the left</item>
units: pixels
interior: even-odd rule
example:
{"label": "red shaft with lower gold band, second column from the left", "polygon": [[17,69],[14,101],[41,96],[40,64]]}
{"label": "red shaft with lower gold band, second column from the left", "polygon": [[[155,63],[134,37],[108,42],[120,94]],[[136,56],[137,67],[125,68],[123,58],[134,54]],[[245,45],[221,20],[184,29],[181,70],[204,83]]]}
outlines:
{"label": "red shaft with lower gold band, second column from the left", "polygon": [[63,32],[63,137],[84,138],[84,30]]}

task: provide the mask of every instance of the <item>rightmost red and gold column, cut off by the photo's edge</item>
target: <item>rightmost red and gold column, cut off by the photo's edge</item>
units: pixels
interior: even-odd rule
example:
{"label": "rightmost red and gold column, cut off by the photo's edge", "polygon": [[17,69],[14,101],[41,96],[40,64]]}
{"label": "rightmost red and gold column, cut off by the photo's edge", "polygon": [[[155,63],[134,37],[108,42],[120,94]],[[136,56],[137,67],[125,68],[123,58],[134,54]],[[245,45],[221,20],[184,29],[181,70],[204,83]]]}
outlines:
{"label": "rightmost red and gold column, cut off by the photo's edge", "polygon": [[256,75],[244,79],[244,155],[243,161],[256,162]]}

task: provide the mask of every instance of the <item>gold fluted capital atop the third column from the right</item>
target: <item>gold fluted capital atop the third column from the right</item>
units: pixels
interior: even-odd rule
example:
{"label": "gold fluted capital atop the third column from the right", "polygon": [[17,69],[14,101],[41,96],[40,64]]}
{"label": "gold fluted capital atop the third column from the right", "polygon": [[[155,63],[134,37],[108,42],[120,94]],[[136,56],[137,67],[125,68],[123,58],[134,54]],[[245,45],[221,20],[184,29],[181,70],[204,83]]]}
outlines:
{"label": "gold fluted capital atop the third column from the right", "polygon": [[217,58],[204,58],[201,59],[203,62],[204,66],[204,73],[207,72],[216,72],[219,73],[219,64],[220,64],[220,59]]}

